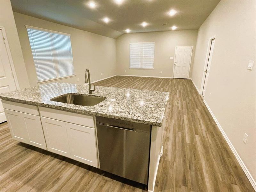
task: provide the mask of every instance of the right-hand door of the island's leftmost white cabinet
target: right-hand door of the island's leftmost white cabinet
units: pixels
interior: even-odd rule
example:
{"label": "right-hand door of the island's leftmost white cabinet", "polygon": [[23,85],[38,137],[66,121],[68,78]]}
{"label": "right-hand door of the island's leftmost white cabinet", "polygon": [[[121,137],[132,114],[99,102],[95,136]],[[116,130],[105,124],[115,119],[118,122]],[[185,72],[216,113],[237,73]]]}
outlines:
{"label": "right-hand door of the island's leftmost white cabinet", "polygon": [[28,132],[27,143],[42,149],[47,149],[40,117],[21,112],[20,116]]}

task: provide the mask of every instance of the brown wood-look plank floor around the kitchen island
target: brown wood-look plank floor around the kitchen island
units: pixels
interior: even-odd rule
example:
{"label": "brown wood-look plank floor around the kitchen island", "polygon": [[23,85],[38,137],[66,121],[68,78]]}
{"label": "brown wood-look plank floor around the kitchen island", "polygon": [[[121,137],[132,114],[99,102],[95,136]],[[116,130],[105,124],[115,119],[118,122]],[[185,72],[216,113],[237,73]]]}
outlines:
{"label": "brown wood-look plank floor around the kitchen island", "polygon": [[[100,86],[170,92],[155,191],[253,192],[191,80],[115,76]],[[0,191],[146,191],[142,184],[11,138],[0,124]]]}

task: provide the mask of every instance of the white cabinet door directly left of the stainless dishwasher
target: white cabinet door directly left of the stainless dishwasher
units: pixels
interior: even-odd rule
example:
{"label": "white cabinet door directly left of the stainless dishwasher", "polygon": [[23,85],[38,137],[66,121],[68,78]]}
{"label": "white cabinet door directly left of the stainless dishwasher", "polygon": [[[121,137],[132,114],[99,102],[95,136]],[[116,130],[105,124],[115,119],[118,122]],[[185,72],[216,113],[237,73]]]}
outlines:
{"label": "white cabinet door directly left of the stainless dishwasher", "polygon": [[95,129],[66,123],[71,158],[98,167]]}

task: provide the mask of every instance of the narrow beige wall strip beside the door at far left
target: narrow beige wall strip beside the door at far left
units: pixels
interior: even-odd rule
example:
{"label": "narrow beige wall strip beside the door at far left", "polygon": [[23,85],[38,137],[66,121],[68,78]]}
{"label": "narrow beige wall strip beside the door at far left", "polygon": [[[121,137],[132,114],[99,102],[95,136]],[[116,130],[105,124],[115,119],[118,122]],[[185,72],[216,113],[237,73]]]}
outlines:
{"label": "narrow beige wall strip beside the door at far left", "polygon": [[19,36],[15,26],[10,0],[0,0],[0,26],[5,28],[20,88],[29,87],[27,71],[20,48]]}

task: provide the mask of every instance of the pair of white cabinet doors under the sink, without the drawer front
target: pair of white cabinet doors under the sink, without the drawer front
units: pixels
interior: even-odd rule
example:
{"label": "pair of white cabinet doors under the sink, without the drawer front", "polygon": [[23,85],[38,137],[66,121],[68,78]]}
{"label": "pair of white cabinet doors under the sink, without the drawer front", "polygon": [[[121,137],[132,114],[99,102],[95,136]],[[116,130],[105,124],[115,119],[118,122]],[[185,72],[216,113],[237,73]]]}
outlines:
{"label": "pair of white cabinet doors under the sink, without the drawer front", "polygon": [[47,117],[41,121],[48,151],[98,167],[95,128]]}

